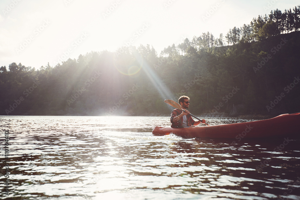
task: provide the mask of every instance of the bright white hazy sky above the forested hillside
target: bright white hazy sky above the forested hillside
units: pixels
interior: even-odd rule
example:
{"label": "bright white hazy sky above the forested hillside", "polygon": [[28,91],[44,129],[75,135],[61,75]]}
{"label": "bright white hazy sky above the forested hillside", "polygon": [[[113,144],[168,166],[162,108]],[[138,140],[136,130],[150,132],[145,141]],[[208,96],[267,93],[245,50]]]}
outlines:
{"label": "bright white hazy sky above the forested hillside", "polygon": [[209,31],[214,37],[298,0],[1,0],[0,66],[40,68],[126,44],[165,47]]}

